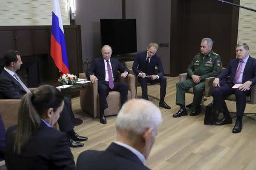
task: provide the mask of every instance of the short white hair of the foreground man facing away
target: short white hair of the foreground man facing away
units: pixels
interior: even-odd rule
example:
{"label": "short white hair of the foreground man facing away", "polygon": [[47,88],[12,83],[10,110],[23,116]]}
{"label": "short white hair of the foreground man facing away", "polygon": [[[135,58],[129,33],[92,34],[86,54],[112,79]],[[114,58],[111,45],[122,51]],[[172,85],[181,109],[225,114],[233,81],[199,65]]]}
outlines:
{"label": "short white hair of the foreground man facing away", "polygon": [[160,109],[151,101],[133,99],[123,105],[115,125],[117,130],[133,131],[135,134],[142,134],[148,128],[153,128],[152,134],[155,136],[162,121]]}

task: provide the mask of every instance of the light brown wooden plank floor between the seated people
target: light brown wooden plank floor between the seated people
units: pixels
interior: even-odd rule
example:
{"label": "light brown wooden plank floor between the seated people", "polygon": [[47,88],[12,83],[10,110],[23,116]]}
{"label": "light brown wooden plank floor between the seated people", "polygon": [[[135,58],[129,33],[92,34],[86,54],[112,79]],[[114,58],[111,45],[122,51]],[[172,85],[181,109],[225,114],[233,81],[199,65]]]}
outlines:
{"label": "light brown wooden plank floor between the seated people", "polygon": [[[242,132],[233,134],[235,118],[232,125],[224,126],[204,125],[204,111],[195,117],[173,118],[172,114],[179,110],[175,105],[177,80],[167,78],[165,100],[171,110],[161,108],[163,123],[146,165],[151,169],[256,169],[256,122],[243,117]],[[148,94],[159,98],[159,85],[149,86]],[[138,97],[141,97],[140,87]],[[192,97],[186,94],[186,104],[191,103]],[[152,97],[150,100],[158,105],[158,100]],[[211,97],[205,105],[210,101]],[[105,150],[115,140],[116,116],[107,117],[108,124],[102,125],[81,110],[79,97],[72,99],[72,107],[75,116],[84,120],[75,131],[89,138],[84,147],[72,148],[76,162],[80,152]],[[235,103],[229,102],[228,108],[235,111]],[[246,112],[255,111],[255,105],[246,106]]]}

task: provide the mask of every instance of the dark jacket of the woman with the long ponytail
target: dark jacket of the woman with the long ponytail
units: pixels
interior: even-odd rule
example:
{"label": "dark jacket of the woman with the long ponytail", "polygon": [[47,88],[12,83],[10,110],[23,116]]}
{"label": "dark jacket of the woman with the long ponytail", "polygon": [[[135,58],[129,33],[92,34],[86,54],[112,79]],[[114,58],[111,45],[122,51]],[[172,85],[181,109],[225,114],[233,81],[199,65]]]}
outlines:
{"label": "dark jacket of the woman with the long ponytail", "polygon": [[6,131],[6,167],[9,170],[76,169],[67,135],[41,123],[20,155],[14,152],[14,131],[17,127],[11,126]]}

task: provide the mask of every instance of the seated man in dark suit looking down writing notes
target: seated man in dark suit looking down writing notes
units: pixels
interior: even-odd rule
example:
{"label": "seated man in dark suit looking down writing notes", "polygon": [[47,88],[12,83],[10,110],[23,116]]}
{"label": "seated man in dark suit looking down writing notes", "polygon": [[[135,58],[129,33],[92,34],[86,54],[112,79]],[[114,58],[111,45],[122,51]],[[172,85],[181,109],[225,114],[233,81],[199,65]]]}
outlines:
{"label": "seated man in dark suit looking down writing notes", "polygon": [[[139,52],[133,62],[133,71],[138,75],[138,80],[141,83],[142,98],[148,100],[147,83],[160,83],[159,107],[171,109],[164,102],[164,97],[166,96],[166,77],[163,76],[163,65],[160,56],[156,54],[157,50],[158,44],[152,42],[148,45],[146,51]],[[158,74],[155,73],[155,67],[158,68]]]}

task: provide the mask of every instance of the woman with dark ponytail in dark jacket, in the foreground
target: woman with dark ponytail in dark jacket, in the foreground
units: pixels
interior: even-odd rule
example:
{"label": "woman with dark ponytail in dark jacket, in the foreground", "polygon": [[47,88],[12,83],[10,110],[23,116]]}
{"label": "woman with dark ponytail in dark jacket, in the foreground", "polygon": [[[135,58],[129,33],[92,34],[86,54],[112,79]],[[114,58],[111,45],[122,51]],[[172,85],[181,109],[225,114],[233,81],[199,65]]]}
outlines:
{"label": "woman with dark ponytail in dark jacket, in the foreground", "polygon": [[23,96],[18,125],[6,131],[7,169],[76,169],[67,135],[52,128],[63,105],[63,95],[49,85]]}

